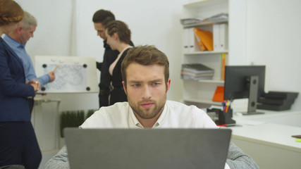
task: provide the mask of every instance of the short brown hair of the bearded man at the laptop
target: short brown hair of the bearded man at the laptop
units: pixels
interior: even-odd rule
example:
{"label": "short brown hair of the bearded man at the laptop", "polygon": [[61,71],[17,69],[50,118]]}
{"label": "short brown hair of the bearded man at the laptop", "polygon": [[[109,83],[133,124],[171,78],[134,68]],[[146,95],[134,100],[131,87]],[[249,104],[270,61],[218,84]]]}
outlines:
{"label": "short brown hair of the bearded man at the laptop", "polygon": [[136,46],[130,48],[128,54],[126,54],[123,62],[121,63],[121,75],[126,87],[126,73],[125,69],[128,68],[130,63],[138,63],[140,65],[163,65],[165,83],[167,84],[169,79],[169,62],[167,56],[155,46]]}

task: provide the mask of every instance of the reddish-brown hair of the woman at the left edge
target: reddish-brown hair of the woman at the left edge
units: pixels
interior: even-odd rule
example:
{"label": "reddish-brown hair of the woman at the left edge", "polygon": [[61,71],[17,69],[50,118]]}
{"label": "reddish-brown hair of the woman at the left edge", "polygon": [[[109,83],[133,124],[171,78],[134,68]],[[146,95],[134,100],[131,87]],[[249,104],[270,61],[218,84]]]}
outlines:
{"label": "reddish-brown hair of the woman at the left edge", "polygon": [[13,0],[0,1],[0,25],[18,23],[24,16],[23,9]]}

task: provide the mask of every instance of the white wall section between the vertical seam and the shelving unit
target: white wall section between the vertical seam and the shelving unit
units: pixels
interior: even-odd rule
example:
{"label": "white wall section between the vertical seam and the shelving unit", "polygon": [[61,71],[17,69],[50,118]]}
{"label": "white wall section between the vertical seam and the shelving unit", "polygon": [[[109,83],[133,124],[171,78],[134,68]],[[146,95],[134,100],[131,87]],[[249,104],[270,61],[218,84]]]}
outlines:
{"label": "white wall section between the vertical seam and the shelving unit", "polygon": [[181,33],[180,15],[183,1],[177,0],[90,0],[77,1],[78,56],[102,61],[103,42],[97,37],[92,15],[100,8],[114,13],[116,20],[128,24],[132,41],[137,45],[155,45],[170,61],[171,90],[168,99],[180,101]]}

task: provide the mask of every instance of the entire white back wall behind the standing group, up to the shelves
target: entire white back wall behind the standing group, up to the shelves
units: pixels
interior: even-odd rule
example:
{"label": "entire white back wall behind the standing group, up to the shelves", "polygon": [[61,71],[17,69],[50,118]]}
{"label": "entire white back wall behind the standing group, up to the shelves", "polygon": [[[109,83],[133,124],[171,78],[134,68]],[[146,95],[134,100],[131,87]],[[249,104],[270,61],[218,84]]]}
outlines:
{"label": "entire white back wall behind the standing group, up to the shelves", "polygon": [[[180,101],[182,26],[181,0],[16,0],[38,20],[35,37],[27,43],[28,54],[90,56],[102,61],[103,42],[97,37],[92,15],[100,8],[112,11],[132,31],[137,45],[152,44],[168,56],[171,89],[168,99]],[[99,77],[99,71],[98,77]],[[98,79],[99,80],[99,79]],[[61,99],[60,111],[98,108],[98,94],[47,94],[43,99]]]}

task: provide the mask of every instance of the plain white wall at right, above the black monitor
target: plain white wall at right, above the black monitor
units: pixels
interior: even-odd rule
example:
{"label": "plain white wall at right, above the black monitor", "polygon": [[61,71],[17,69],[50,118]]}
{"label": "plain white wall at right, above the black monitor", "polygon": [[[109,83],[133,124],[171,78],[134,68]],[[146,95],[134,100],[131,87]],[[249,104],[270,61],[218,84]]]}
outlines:
{"label": "plain white wall at right, above the black monitor", "polygon": [[[301,1],[229,0],[229,64],[266,65],[265,91],[301,93]],[[292,110],[301,109],[298,96]]]}

